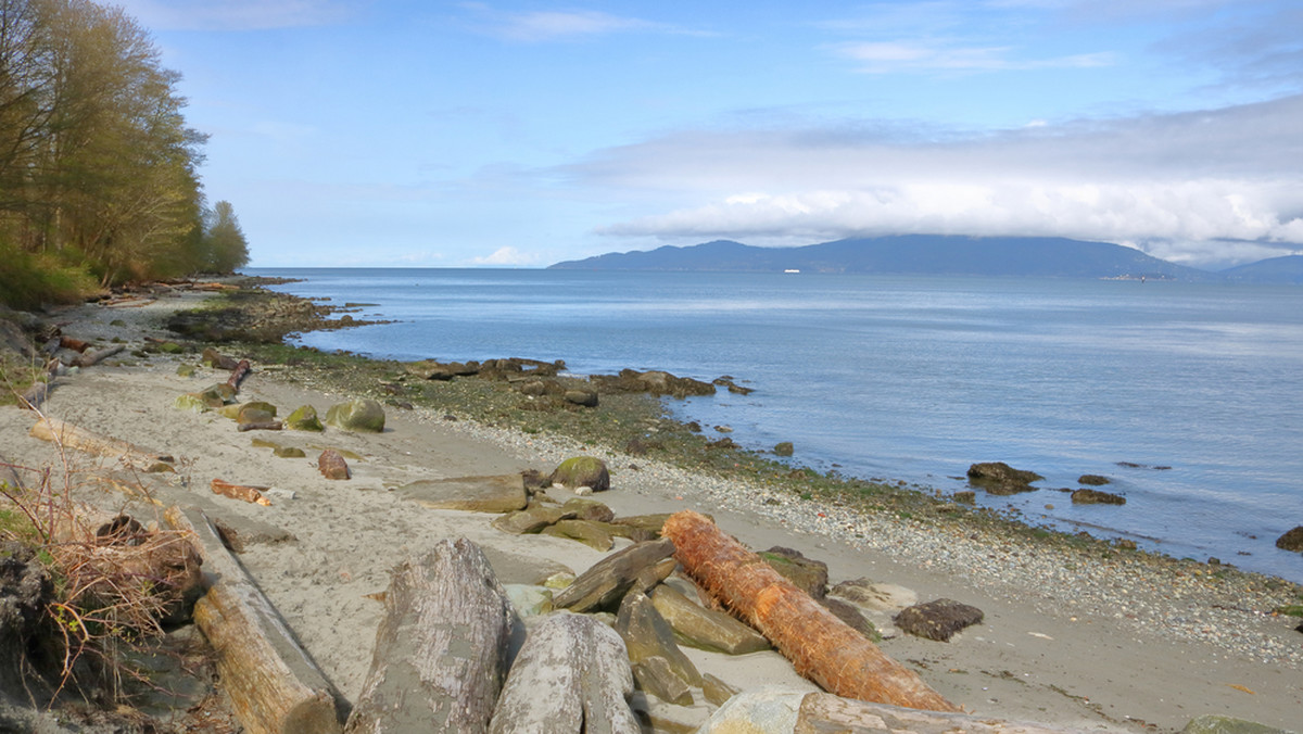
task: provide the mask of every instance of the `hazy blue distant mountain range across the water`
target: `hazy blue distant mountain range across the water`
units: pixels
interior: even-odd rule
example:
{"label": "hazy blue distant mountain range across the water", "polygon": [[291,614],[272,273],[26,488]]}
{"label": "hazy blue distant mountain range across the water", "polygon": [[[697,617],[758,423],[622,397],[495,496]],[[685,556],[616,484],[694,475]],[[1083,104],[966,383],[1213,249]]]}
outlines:
{"label": "hazy blue distant mountain range across the water", "polygon": [[687,248],[607,253],[558,262],[558,270],[846,272],[926,275],[1038,275],[1195,283],[1303,283],[1303,256],[1278,257],[1209,272],[1111,242],[1062,237],[899,235],[799,248],[757,248],[715,240]]}

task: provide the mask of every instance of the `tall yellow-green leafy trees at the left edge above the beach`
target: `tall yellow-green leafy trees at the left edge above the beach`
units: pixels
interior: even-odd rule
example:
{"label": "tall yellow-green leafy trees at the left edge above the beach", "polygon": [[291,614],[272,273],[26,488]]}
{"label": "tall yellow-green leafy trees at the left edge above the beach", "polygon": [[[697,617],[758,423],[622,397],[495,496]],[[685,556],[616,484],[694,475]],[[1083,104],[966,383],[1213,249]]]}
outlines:
{"label": "tall yellow-green leafy trees at the left edge above the beach", "polygon": [[[113,286],[211,267],[206,138],[185,125],[179,78],[121,8],[0,0],[0,239],[33,256],[0,284],[31,304],[76,300],[69,274]],[[47,269],[55,283],[31,274]]]}

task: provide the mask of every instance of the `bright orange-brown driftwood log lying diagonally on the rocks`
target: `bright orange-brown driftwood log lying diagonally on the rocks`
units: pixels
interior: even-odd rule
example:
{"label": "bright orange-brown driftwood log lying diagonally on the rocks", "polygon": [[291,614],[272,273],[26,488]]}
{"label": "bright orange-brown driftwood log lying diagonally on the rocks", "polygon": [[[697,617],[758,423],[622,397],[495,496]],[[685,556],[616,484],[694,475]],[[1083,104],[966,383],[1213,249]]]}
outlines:
{"label": "bright orange-brown driftwood log lying diagonally on the rocks", "polygon": [[765,561],[691,510],[670,516],[684,570],[743,621],[760,630],[796,671],[848,699],[928,711],[960,711],[852,630]]}

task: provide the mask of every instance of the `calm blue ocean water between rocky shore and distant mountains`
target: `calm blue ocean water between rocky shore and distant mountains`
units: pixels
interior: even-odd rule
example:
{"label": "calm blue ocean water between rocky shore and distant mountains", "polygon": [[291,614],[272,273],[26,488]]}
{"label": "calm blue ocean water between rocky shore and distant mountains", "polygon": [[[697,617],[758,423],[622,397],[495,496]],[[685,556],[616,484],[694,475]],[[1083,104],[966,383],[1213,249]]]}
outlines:
{"label": "calm blue ocean water between rocky shore and distant mountains", "polygon": [[[979,502],[1031,524],[1303,581],[1303,288],[1158,282],[276,269],[278,289],[395,323],[302,343],[400,360],[566,360],[576,374],[732,375],[670,400],[734,441],[847,476],[966,488],[975,462],[1046,477]],[[706,433],[713,433],[711,428]],[[1134,465],[1124,465],[1134,464]],[[1058,489],[1105,475],[1127,505]],[[1049,508],[1048,506],[1053,506]]]}

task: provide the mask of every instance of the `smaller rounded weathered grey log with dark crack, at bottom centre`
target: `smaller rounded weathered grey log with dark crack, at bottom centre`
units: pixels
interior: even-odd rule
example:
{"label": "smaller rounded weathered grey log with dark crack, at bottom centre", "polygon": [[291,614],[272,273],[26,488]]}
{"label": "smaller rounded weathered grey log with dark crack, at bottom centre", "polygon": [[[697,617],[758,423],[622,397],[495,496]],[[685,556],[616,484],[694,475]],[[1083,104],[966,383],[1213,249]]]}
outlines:
{"label": "smaller rounded weathered grey log with dark crack, at bottom centre", "polygon": [[491,734],[636,734],[624,643],[597,619],[558,611],[538,622],[507,677]]}

